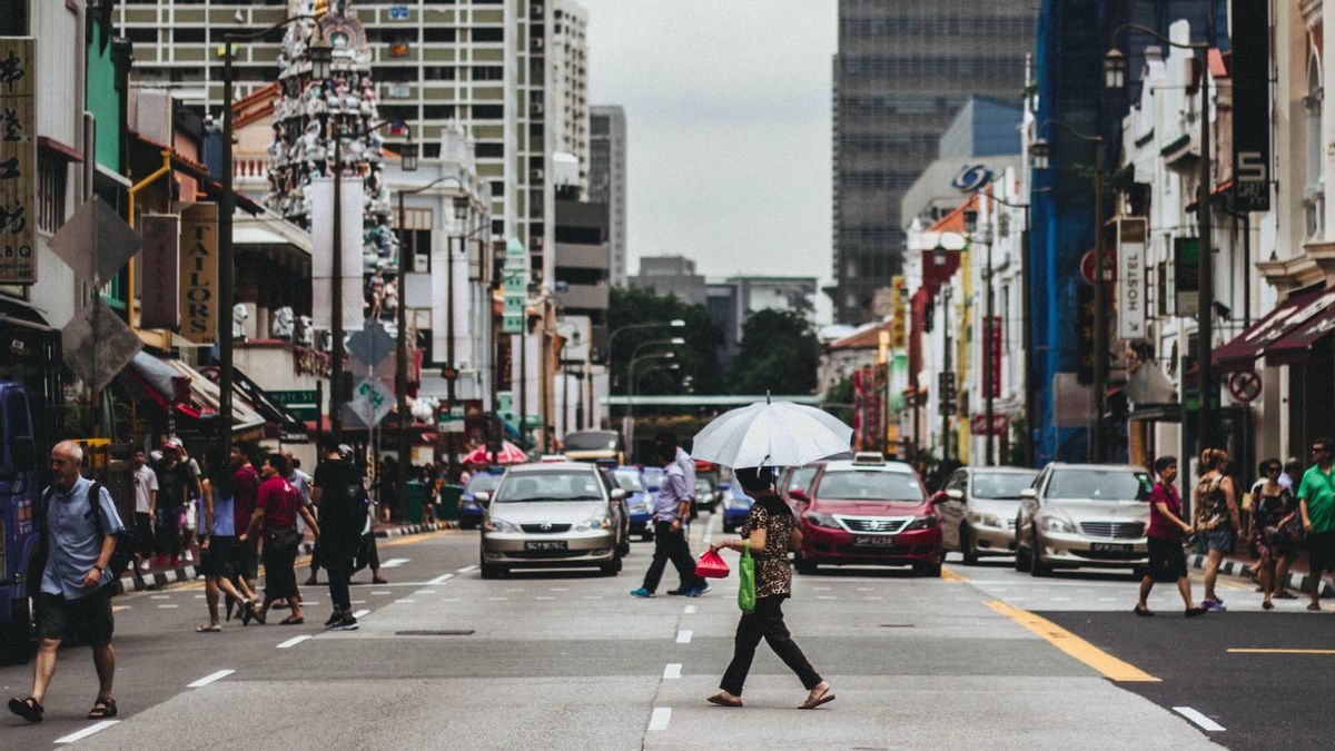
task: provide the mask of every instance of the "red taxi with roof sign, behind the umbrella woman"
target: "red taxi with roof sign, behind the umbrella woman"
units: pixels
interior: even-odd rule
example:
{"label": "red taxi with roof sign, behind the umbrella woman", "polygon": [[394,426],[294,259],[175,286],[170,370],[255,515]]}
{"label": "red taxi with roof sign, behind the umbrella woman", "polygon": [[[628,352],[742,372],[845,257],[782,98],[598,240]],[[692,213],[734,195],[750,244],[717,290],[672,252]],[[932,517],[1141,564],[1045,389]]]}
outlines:
{"label": "red taxi with roof sign, behind the umbrella woman", "polygon": [[808,465],[808,489],[788,489],[802,528],[800,573],[818,565],[912,565],[941,575],[941,524],[913,468],[900,461],[858,457]]}

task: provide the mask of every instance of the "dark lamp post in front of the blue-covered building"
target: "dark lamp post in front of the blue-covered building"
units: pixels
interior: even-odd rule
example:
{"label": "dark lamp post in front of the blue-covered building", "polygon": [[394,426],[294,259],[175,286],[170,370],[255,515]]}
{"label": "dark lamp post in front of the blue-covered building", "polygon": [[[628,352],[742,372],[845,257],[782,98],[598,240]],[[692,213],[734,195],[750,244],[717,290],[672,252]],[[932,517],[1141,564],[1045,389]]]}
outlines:
{"label": "dark lamp post in front of the blue-covered building", "polygon": [[1103,253],[1103,136],[1083,134],[1061,120],[1047,120],[1039,126],[1039,138],[1029,146],[1035,170],[1049,167],[1049,146],[1043,138],[1048,126],[1067,135],[1093,144],[1093,384],[1091,390],[1089,461],[1103,461],[1103,412],[1108,390],[1108,273]]}

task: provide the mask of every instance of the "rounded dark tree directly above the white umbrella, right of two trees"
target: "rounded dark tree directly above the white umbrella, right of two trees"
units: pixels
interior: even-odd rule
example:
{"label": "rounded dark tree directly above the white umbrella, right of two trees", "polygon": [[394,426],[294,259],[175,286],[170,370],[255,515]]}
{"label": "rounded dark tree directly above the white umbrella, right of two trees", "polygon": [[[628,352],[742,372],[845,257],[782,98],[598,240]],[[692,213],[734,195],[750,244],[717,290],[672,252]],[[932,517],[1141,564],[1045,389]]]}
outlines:
{"label": "rounded dark tree directly above the white umbrella, right of two trees", "polygon": [[761,310],[742,325],[733,359],[732,392],[809,394],[816,390],[820,341],[810,322],[793,310]]}

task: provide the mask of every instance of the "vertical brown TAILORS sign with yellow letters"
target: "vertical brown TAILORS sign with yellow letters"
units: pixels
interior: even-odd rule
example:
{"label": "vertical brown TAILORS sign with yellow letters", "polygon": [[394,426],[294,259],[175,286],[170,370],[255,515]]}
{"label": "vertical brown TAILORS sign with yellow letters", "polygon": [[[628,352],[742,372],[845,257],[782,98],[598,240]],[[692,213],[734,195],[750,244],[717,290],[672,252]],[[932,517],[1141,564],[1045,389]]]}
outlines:
{"label": "vertical brown TAILORS sign with yellow letters", "polygon": [[[180,208],[180,335],[198,345],[218,341],[218,204]],[[226,314],[231,326],[232,313]]]}

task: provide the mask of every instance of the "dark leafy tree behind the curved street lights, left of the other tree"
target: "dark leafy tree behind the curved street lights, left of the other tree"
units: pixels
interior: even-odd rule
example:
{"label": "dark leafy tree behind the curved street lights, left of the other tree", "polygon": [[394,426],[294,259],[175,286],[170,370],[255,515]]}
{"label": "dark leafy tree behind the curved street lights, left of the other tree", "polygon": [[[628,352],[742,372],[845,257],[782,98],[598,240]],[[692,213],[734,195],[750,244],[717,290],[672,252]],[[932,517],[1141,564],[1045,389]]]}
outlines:
{"label": "dark leafy tree behind the curved street lights, left of the other tree", "polygon": [[[682,327],[668,326],[669,321],[681,319]],[[694,389],[701,394],[724,393],[726,385],[718,366],[718,353],[724,346],[722,327],[709,317],[702,305],[690,305],[674,295],[659,295],[653,290],[633,287],[613,287],[607,305],[607,327],[617,331],[625,326],[662,323],[662,326],[630,329],[617,335],[611,342],[613,393],[630,393],[630,357],[641,345],[681,337],[685,345],[653,345],[639,351],[642,359],[635,365],[637,386],[641,394],[681,394],[682,378],[692,377]],[[643,359],[643,355],[658,351],[674,351],[674,359]],[[676,362],[681,370],[650,370],[655,366]]]}

